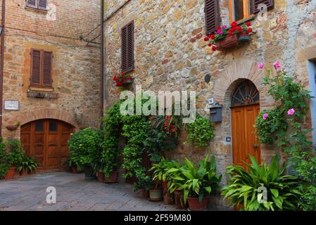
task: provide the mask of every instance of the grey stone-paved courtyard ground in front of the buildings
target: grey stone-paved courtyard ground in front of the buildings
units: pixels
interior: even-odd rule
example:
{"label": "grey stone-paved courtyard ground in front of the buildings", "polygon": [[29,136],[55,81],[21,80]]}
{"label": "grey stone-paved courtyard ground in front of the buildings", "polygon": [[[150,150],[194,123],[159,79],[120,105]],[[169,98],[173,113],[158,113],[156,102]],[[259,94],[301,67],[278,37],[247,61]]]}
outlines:
{"label": "grey stone-paved courtyard ground in front of the buildings", "polygon": [[[46,203],[46,188],[56,188],[57,203]],[[104,184],[86,181],[84,174],[32,174],[0,181],[1,210],[175,210],[163,202],[153,203],[134,193],[130,184]]]}

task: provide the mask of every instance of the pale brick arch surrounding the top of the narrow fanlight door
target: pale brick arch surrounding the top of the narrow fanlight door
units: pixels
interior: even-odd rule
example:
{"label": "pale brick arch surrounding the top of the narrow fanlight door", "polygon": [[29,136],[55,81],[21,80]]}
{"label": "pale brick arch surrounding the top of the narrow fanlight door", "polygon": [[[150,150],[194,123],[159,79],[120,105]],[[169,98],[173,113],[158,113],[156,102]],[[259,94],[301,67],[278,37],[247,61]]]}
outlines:
{"label": "pale brick arch surrounding the top of the narrow fanlight door", "polygon": [[265,70],[258,68],[258,63],[254,62],[251,58],[241,58],[232,61],[232,63],[220,73],[220,78],[214,84],[214,98],[215,101],[225,104],[227,98],[227,90],[234,87],[234,83],[240,79],[249,79],[260,92],[260,102],[264,101],[262,93],[264,92],[263,77]]}

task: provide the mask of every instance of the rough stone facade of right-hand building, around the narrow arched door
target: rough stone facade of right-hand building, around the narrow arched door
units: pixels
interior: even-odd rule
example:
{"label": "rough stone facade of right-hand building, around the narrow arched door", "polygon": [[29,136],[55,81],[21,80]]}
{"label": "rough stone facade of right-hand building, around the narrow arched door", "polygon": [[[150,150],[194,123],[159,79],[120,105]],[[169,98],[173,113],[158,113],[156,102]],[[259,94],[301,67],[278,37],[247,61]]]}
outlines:
{"label": "rough stone facade of right-hand building, around the narrow arched door", "polygon": [[[220,0],[221,25],[229,25],[231,1]],[[215,139],[205,149],[196,150],[180,145],[170,154],[173,158],[203,158],[209,150],[215,154],[218,169],[225,172],[232,165],[231,99],[243,81],[251,81],[260,92],[260,108],[272,108],[275,103],[263,86],[264,70],[258,63],[272,65],[280,61],[288,75],[304,84],[306,89],[315,84],[309,67],[316,58],[316,1],[275,0],[267,11],[267,20],[253,23],[255,33],[251,41],[233,51],[213,52],[203,37],[206,35],[205,0],[108,0],[106,30],[106,98],[109,107],[117,101],[122,88],[115,86],[113,75],[120,72],[121,28],[134,21],[134,77],[133,85],[144,90],[193,90],[198,96],[198,112],[206,117],[208,99],[223,105],[222,122],[215,124]],[[308,64],[310,63],[310,64]],[[309,66],[308,66],[309,65]],[[210,75],[210,82],[204,77]],[[315,85],[314,85],[315,86]],[[132,87],[132,89],[134,86]],[[315,90],[314,90],[315,91]],[[306,127],[312,126],[308,115]],[[185,140],[185,135],[182,141]],[[262,159],[269,160],[276,148],[260,146]]]}

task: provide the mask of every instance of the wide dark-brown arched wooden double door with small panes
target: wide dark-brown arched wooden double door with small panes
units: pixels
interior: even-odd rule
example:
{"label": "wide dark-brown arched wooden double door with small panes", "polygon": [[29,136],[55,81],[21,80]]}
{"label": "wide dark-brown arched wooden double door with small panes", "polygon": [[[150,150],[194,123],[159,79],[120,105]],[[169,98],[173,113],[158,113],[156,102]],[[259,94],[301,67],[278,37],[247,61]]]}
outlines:
{"label": "wide dark-brown arched wooden double door with small panes", "polygon": [[21,127],[21,144],[39,162],[39,171],[67,167],[68,139],[74,127],[60,120],[36,120]]}

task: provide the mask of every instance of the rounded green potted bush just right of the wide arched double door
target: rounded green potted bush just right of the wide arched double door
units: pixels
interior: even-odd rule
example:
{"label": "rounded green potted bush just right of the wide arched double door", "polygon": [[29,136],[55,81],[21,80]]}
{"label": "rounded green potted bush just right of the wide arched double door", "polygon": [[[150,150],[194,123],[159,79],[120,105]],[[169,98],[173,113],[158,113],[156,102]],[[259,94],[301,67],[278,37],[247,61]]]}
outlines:
{"label": "rounded green potted bush just right of the wide arched double door", "polygon": [[72,134],[68,141],[70,159],[84,168],[84,176],[87,180],[96,179],[93,163],[99,152],[100,141],[98,131],[90,127]]}

